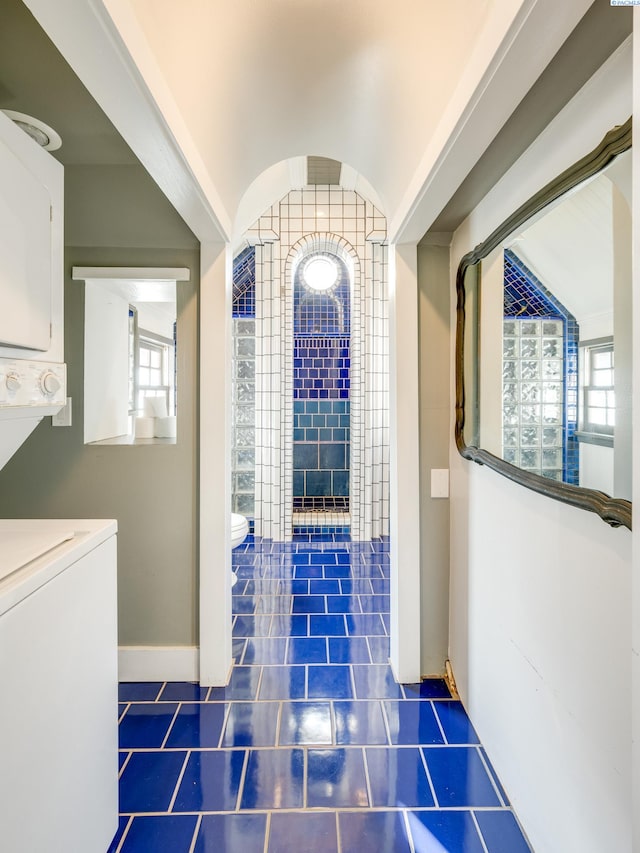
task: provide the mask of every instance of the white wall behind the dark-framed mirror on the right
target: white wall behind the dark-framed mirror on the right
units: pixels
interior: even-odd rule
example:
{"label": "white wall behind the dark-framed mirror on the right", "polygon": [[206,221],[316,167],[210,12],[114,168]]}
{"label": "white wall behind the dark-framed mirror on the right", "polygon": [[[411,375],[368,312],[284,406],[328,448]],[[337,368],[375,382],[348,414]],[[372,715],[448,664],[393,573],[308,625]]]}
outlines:
{"label": "white wall behind the dark-framed mirror on the right", "polygon": [[[629,117],[631,79],[626,44],[458,229],[452,276],[465,252]],[[450,657],[533,848],[630,850],[631,534],[453,446],[451,513]]]}

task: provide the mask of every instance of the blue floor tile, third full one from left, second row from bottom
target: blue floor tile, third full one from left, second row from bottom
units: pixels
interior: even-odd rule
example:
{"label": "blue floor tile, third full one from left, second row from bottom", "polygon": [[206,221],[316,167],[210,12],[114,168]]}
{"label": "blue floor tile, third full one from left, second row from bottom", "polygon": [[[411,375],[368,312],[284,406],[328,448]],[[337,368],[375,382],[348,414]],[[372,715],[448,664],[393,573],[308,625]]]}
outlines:
{"label": "blue floor tile, third full one from left, second row from bottom", "polygon": [[303,802],[301,749],[260,749],[249,753],[241,809],[299,809]]}

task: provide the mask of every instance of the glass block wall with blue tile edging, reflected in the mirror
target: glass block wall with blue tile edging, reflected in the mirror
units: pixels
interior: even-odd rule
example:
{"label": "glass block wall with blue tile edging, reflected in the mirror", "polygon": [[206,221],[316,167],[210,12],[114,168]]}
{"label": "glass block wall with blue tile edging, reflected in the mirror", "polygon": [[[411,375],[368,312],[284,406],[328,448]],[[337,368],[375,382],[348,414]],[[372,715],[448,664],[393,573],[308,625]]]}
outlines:
{"label": "glass block wall with blue tile edging, reflected in the mirror", "polygon": [[578,325],[507,249],[504,253],[503,458],[578,483]]}

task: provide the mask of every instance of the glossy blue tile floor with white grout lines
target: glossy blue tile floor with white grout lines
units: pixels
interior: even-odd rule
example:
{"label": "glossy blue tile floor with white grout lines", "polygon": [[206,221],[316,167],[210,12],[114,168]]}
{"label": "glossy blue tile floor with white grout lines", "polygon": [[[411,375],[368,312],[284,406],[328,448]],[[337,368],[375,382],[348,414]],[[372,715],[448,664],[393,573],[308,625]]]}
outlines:
{"label": "glossy blue tile floor with white grout lines", "polygon": [[394,681],[388,543],[297,538],[234,551],[227,687],[120,685],[109,853],[528,853],[445,682]]}

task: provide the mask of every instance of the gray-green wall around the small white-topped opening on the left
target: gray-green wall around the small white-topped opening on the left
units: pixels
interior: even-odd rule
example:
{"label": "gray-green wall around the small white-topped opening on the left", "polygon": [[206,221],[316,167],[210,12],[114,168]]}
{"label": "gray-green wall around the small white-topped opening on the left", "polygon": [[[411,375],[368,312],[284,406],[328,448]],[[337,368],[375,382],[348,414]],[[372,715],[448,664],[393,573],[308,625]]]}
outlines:
{"label": "gray-green wall around the small white-topped opening on the left", "polygon": [[[65,170],[65,360],[73,426],[45,418],[0,472],[0,517],[118,520],[119,642],[197,642],[199,244],[140,166]],[[83,443],[84,283],[72,266],[176,266],[176,445]]]}

